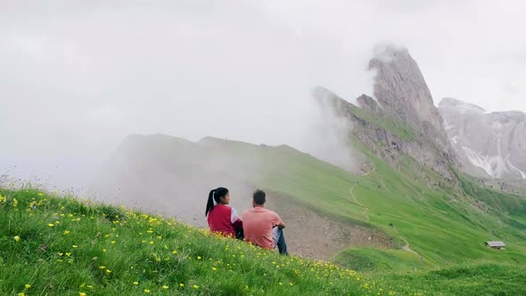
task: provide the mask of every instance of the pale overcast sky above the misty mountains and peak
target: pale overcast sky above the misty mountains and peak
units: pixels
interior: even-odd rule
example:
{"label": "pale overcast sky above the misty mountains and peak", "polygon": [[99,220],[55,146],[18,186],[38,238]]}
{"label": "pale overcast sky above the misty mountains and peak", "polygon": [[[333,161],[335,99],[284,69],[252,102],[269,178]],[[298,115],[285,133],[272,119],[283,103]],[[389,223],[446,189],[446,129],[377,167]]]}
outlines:
{"label": "pale overcast sky above the misty mountains and peak", "polygon": [[436,104],[448,96],[487,111],[526,111],[522,1],[0,7],[0,173],[59,167],[78,179],[131,133],[306,150],[316,125],[310,89],[326,86],[350,102],[371,95],[366,65],[384,43],[408,48]]}

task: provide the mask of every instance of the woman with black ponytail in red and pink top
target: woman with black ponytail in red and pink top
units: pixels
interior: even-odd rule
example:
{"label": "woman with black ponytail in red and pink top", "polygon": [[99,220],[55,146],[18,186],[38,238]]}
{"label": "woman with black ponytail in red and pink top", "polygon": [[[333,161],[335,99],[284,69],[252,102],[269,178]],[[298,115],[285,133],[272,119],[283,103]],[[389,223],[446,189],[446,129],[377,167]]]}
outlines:
{"label": "woman with black ponytail in red and pink top", "polygon": [[[216,205],[214,206],[214,201]],[[242,221],[234,208],[228,206],[228,189],[218,187],[209,193],[205,217],[208,216],[211,232],[242,239]]]}

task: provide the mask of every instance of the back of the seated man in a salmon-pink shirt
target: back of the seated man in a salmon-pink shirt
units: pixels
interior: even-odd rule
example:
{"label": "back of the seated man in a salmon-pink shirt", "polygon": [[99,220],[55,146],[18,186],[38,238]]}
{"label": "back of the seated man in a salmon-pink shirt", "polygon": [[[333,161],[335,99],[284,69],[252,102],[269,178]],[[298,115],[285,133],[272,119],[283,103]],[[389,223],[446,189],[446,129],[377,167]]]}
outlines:
{"label": "back of the seated man in a salmon-pink shirt", "polygon": [[261,248],[272,250],[275,243],[272,240],[272,228],[283,223],[272,210],[255,207],[242,212],[242,228],[244,240],[259,245]]}

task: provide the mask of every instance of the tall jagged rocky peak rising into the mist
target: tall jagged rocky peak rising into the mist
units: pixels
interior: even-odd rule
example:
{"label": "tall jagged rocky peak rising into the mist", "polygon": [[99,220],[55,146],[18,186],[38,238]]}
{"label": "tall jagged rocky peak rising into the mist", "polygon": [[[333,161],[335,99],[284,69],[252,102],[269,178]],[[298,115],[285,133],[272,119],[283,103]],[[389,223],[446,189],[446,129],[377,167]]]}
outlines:
{"label": "tall jagged rocky peak rising into the mist", "polygon": [[358,140],[395,168],[404,153],[456,183],[455,152],[415,60],[406,49],[386,48],[369,66],[376,70],[375,100],[361,95],[358,108],[323,87],[315,97],[332,102],[336,114],[353,123]]}

